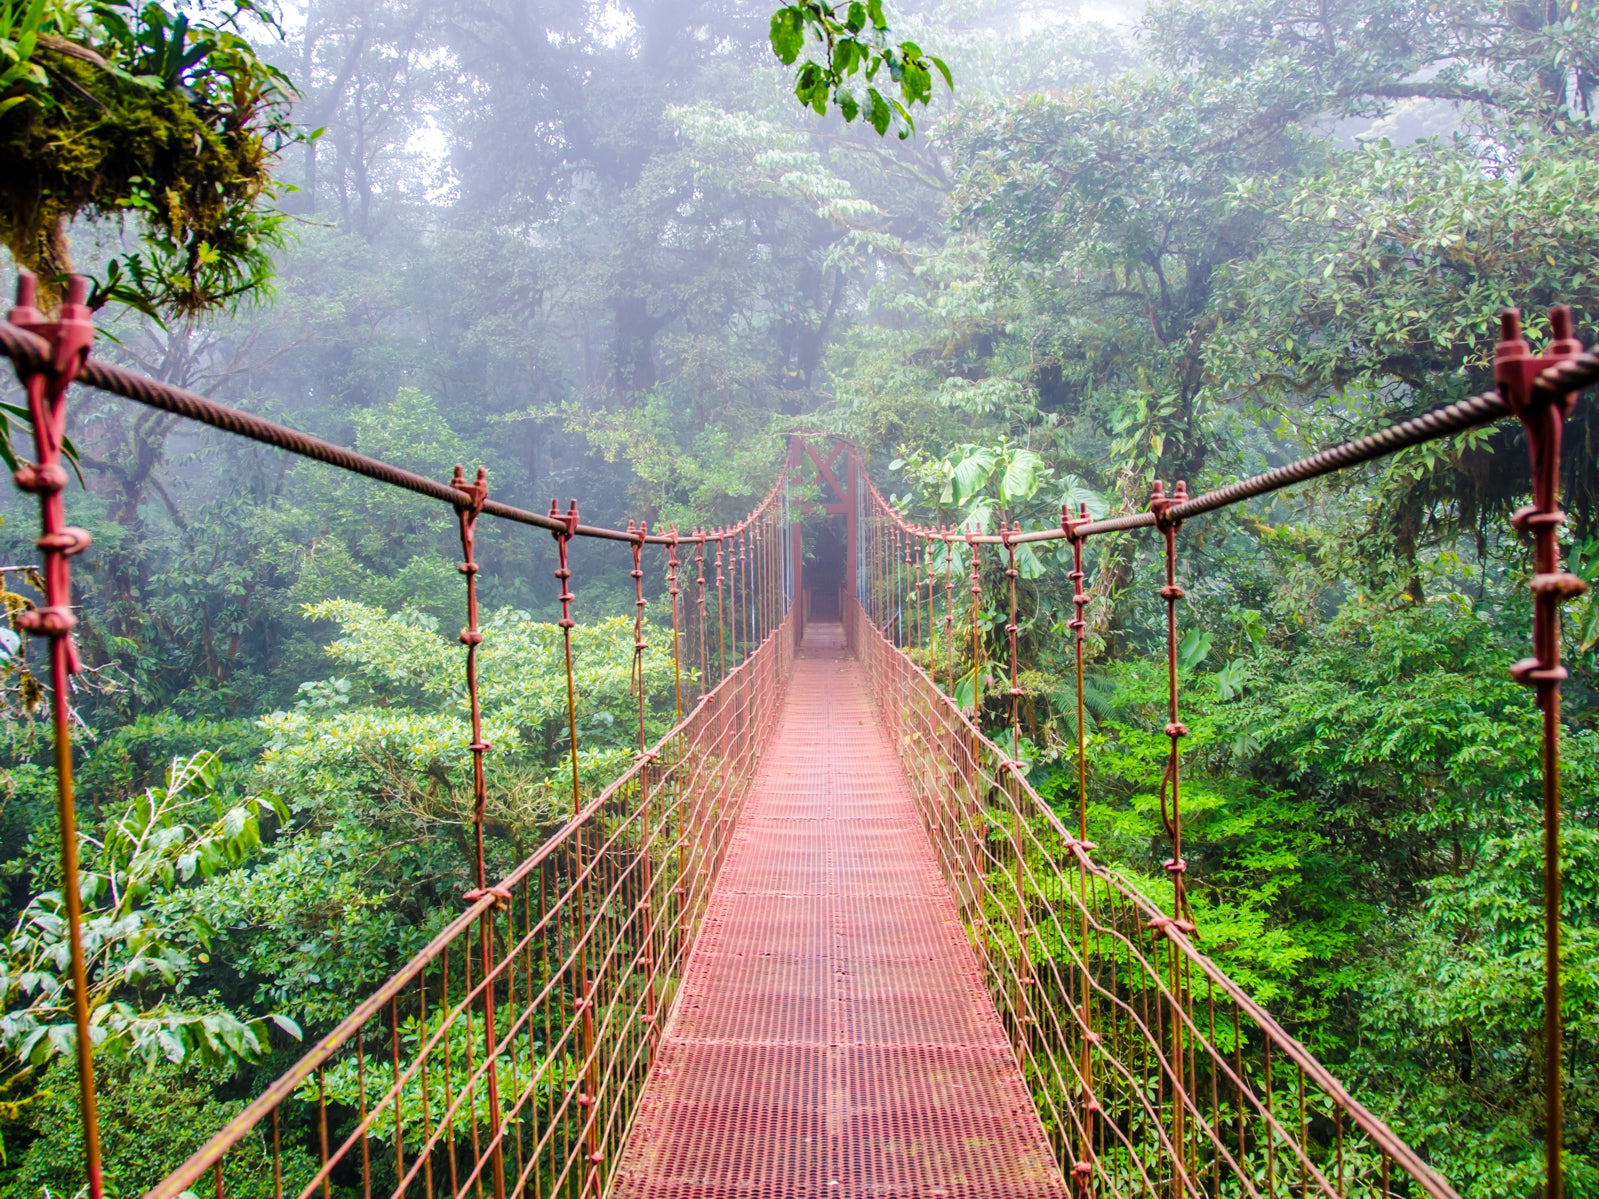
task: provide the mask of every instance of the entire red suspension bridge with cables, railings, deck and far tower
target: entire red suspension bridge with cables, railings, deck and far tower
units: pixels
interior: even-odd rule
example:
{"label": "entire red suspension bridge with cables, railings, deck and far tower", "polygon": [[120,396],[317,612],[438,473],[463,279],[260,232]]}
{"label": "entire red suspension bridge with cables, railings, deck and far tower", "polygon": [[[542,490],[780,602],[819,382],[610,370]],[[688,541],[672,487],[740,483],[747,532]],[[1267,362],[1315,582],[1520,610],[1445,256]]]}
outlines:
{"label": "entire red suspension bridge with cables, railings, deck and far tower", "polygon": [[[1599,355],[1556,310],[1533,355],[1506,313],[1497,393],[1190,497],[1156,484],[1143,512],[1059,528],[910,523],[860,452],[793,436],[772,491],[731,528],[580,523],[576,502],[526,512],[481,470],[429,480],[90,357],[74,286],[56,320],[24,277],[0,325],[27,392],[51,651],[85,1181],[102,1196],[72,788],[69,679],[78,668],[66,524],[69,387],[86,384],[433,497],[461,534],[477,881],[454,921],[323,1036],[147,1199],[389,1196],[1453,1196],[1441,1178],[1198,946],[1186,902],[1177,686],[1186,520],[1505,417],[1525,427],[1533,655],[1513,673],[1543,711],[1546,1199],[1561,1196],[1559,448]],[[798,502],[814,476],[830,499]],[[844,585],[807,587],[801,526],[844,518]],[[483,516],[555,537],[566,633],[569,822],[502,879],[486,876],[492,766],[478,705],[475,531]],[[1169,755],[1162,910],[1095,858],[1083,740],[1083,548],[1154,529],[1164,545]],[[577,771],[571,545],[614,542],[635,580],[643,662],[646,555],[670,606],[676,723],[598,793]],[[1062,822],[1020,761],[1017,555],[1065,540],[1078,615],[1078,814]],[[990,636],[985,595],[1009,603]],[[807,619],[807,611],[817,619]],[[1009,678],[1009,721],[982,695]],[[643,675],[640,673],[640,679]],[[337,1079],[339,1085],[331,1085]],[[336,1092],[336,1093],[334,1093]]]}

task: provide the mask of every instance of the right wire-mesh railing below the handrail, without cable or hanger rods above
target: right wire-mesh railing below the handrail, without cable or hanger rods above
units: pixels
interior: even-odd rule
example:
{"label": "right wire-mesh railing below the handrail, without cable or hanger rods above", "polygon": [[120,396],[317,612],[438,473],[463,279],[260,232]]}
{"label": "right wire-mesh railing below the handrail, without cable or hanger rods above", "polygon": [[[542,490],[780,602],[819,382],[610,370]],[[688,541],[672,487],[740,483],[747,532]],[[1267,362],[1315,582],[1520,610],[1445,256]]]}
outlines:
{"label": "right wire-mesh railing below the handrail, without cable or hanger rods above", "polygon": [[854,600],[849,625],[1068,1178],[1113,1196],[1455,1194],[1170,916],[1095,862]]}

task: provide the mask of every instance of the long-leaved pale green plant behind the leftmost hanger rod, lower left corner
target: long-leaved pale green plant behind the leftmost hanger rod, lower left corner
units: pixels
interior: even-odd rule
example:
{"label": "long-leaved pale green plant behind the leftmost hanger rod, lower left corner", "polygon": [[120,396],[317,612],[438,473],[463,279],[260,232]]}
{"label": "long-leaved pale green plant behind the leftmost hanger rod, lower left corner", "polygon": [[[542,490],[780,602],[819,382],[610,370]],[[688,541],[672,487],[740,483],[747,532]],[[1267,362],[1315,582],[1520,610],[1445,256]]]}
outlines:
{"label": "long-leaved pale green plant behind the leftmost hanger rod, lower left corner", "polygon": [[[203,914],[184,911],[181,900],[259,854],[264,815],[262,801],[224,795],[219,779],[221,759],[213,751],[176,758],[160,787],[80,830],[90,1030],[102,1073],[123,1082],[106,1103],[104,1127],[109,1141],[126,1132],[147,1149],[126,1154],[118,1170],[171,1169],[209,1135],[203,1121],[222,1111],[195,1092],[201,1122],[173,1125],[169,1135],[189,1148],[174,1149],[176,1159],[163,1156],[168,1141],[149,1138],[138,1074],[176,1068],[225,1074],[269,1052],[269,1026],[288,1038],[301,1034],[285,1015],[238,1015],[217,994],[201,991],[216,929]],[[53,878],[53,841],[29,849],[38,855],[35,878]],[[61,1065],[72,1062],[77,1044],[62,906],[59,889],[32,895],[0,954],[0,1137],[14,1141],[21,1130],[24,1141],[32,1140],[18,1165],[22,1186],[77,1169],[70,1154],[78,1121],[67,1100],[70,1093],[75,1101],[75,1085],[70,1065]]]}

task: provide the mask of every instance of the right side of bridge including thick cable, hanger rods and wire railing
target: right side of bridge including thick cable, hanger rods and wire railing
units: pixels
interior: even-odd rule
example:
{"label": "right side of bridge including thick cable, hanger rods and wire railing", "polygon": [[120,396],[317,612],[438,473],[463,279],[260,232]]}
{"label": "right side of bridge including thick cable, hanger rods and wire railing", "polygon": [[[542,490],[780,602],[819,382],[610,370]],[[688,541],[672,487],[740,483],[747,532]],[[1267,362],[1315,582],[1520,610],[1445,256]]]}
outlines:
{"label": "right side of bridge including thick cable, hanger rods and wire railing", "polygon": [[[1183,857],[1180,748],[1188,727],[1178,689],[1178,532],[1193,516],[1514,416],[1532,459],[1532,504],[1511,523],[1533,542],[1533,655],[1509,673],[1533,691],[1543,723],[1545,1113],[1533,1135],[1545,1141],[1545,1199],[1561,1199],[1561,604],[1586,590],[1561,569],[1561,430],[1577,390],[1599,382],[1599,353],[1572,337],[1569,310],[1551,310],[1549,326],[1551,344],[1535,357],[1521,336],[1519,313],[1501,315],[1493,393],[1202,496],[1188,496],[1180,481],[1167,492],[1156,481],[1146,510],[1102,520],[1062,505],[1059,526],[919,526],[865,478],[865,462],[852,451],[849,476],[859,484],[851,489],[857,529],[851,643],[871,671],[884,723],[1062,1167],[1083,1188],[1250,1197],[1287,1191],[1302,1199],[1453,1194],[1196,948]],[[1083,550],[1089,537],[1145,528],[1164,540],[1169,750],[1159,807],[1170,844],[1169,911],[1094,858],[1087,828],[1083,671],[1091,595]],[[1067,542],[1073,561],[1075,830],[1033,791],[1017,761],[1025,694],[1019,555],[1051,540]],[[996,568],[1004,577],[998,587]],[[1006,593],[1009,620],[1001,633]],[[919,662],[947,671],[943,691]],[[996,683],[993,707],[1003,710],[1006,700],[1009,707],[999,743],[977,724],[983,689]],[[950,694],[961,695],[959,703]]]}

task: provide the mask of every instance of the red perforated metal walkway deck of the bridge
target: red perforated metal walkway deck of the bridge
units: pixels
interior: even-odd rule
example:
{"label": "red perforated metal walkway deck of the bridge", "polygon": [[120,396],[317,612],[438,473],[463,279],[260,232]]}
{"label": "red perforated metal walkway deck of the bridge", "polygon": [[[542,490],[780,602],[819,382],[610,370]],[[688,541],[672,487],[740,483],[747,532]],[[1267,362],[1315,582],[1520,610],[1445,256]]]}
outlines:
{"label": "red perforated metal walkway deck of the bridge", "polygon": [[806,631],[617,1193],[1065,1194],[836,625]]}

